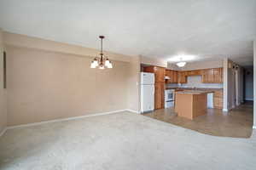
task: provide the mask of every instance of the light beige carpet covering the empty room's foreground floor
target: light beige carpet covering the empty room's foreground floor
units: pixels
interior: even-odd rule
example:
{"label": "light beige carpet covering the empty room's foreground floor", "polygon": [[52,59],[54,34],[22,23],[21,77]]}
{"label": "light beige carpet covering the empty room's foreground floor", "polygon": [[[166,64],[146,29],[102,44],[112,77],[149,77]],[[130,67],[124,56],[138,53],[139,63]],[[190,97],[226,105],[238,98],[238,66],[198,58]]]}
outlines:
{"label": "light beige carpet covering the empty room's foreground floor", "polygon": [[250,139],[215,137],[130,112],[9,130],[1,170],[256,169]]}

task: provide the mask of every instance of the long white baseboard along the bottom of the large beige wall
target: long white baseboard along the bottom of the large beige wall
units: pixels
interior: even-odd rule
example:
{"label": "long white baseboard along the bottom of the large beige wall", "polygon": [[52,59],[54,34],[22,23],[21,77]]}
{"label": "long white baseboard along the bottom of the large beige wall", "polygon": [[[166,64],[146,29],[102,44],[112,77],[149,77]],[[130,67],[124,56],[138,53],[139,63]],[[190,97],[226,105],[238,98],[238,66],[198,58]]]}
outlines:
{"label": "long white baseboard along the bottom of the large beige wall", "polygon": [[32,127],[32,126],[37,126],[37,125],[41,125],[41,124],[45,124],[45,123],[49,123],[49,122],[71,121],[71,120],[82,119],[82,118],[90,117],[90,116],[103,116],[103,115],[109,115],[109,114],[118,113],[118,112],[122,112],[122,111],[126,111],[126,110],[108,111],[108,112],[102,112],[102,113],[96,113],[96,114],[84,115],[84,116],[73,116],[73,117],[68,117],[68,118],[63,118],[63,119],[55,119],[55,120],[44,121],[44,122],[32,122],[32,123],[27,123],[27,124],[23,124],[23,125],[10,126],[10,127],[7,127],[7,129],[13,129],[13,128],[18,128],[18,127]]}

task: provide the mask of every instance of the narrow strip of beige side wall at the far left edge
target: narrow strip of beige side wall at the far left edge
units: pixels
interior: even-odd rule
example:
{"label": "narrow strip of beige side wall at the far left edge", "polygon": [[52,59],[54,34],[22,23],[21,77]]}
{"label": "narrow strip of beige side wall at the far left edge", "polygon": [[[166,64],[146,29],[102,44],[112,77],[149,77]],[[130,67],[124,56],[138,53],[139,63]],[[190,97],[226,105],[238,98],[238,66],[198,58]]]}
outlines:
{"label": "narrow strip of beige side wall at the far left edge", "polygon": [[0,133],[6,127],[6,89],[3,88],[3,31],[0,29]]}

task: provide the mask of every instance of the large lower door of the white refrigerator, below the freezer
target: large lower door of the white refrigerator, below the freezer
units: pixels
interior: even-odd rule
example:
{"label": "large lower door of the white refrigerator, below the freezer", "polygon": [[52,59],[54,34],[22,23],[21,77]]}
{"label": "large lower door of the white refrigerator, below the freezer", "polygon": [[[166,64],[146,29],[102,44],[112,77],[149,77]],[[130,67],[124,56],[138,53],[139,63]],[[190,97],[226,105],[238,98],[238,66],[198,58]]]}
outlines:
{"label": "large lower door of the white refrigerator, below the freezer", "polygon": [[142,112],[154,110],[154,85],[142,85],[141,110]]}

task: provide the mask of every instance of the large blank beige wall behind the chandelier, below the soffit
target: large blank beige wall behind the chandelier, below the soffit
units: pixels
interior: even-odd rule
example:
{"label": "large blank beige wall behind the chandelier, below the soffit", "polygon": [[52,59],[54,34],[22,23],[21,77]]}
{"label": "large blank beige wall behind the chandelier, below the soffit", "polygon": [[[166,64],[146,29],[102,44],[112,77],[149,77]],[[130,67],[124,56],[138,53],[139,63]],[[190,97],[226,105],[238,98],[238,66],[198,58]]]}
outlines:
{"label": "large blank beige wall behind the chandelier, below the soffit", "polygon": [[8,126],[127,107],[129,62],[90,69],[91,58],[7,46]]}

